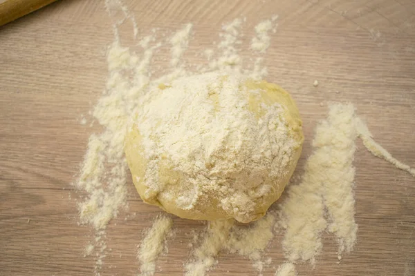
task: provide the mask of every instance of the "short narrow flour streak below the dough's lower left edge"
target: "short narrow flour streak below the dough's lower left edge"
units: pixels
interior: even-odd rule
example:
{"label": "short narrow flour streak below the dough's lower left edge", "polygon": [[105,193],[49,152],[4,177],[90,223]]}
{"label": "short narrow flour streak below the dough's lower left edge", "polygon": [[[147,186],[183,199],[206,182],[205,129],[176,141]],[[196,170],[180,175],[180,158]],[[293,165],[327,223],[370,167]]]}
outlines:
{"label": "short narrow flour streak below the dough's lower left edge", "polygon": [[137,257],[140,261],[140,276],[152,276],[156,273],[156,259],[163,251],[163,244],[173,227],[170,217],[161,215],[153,226],[147,230],[145,238],[138,247]]}

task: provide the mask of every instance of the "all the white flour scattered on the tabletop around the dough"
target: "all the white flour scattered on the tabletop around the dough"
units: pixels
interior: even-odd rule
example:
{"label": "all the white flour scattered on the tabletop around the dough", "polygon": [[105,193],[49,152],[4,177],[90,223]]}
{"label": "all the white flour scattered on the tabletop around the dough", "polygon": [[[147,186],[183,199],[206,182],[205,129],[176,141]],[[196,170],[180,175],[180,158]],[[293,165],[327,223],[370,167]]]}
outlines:
{"label": "all the white flour scattered on the tabletop around the dough", "polygon": [[[84,252],[84,256],[95,256],[95,275],[100,275],[107,255],[105,229],[120,210],[128,210],[129,174],[123,146],[133,110],[150,86],[195,73],[187,70],[183,60],[192,34],[191,23],[169,35],[167,43],[171,46],[171,59],[166,68],[170,71],[159,79],[152,79],[151,60],[162,42],[157,41],[155,32],[138,38],[135,20],[119,1],[107,1],[107,9],[111,17],[116,13],[124,15],[123,19],[113,23],[116,39],[107,51],[107,86],[93,110],[93,117],[104,130],[89,138],[80,177],[75,183],[77,189],[86,193],[79,203],[80,221],[93,226],[96,233]],[[141,47],[137,53],[120,45],[118,27],[125,21],[133,23],[133,35]],[[241,27],[245,21],[235,19],[223,25],[217,49],[205,50],[206,64],[198,66],[197,73],[219,70],[238,72],[255,79],[266,76],[266,67],[261,64],[271,43],[269,33],[276,32],[277,17],[266,19],[255,27],[255,37],[250,43],[255,61],[252,59],[248,66],[239,55]],[[85,123],[82,119],[82,124]],[[271,259],[265,254],[273,240],[275,226],[284,230],[282,248],[286,257],[286,262],[275,273],[277,276],[297,275],[294,264],[298,262],[315,264],[315,257],[322,251],[324,230],[333,233],[337,240],[339,259],[342,253],[353,250],[358,230],[354,220],[355,171],[352,165],[356,137],[360,137],[377,157],[415,176],[413,168],[394,159],[376,144],[365,124],[356,117],[351,104],[335,104],[330,107],[327,119],[315,130],[314,151],[308,157],[301,181],[288,188],[288,197],[277,204],[277,212],[268,212],[263,219],[249,226],[239,226],[232,220],[208,223],[203,233],[196,234],[201,241],[194,244],[190,259],[183,259],[183,273],[187,276],[205,275],[217,264],[220,253],[235,253],[250,259],[257,274],[261,275],[271,265]],[[154,275],[156,259],[163,252],[172,228],[172,219],[160,216],[147,231],[138,247],[140,275]]]}

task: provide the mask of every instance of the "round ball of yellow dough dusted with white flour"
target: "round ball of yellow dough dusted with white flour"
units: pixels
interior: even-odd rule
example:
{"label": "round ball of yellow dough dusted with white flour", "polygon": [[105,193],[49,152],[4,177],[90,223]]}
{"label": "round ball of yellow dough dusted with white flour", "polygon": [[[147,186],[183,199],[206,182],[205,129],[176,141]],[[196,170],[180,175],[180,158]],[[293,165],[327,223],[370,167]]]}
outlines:
{"label": "round ball of yellow dough dusted with white flour", "polygon": [[299,155],[302,121],[288,92],[208,72],[149,89],[125,138],[147,204],[186,219],[264,216]]}

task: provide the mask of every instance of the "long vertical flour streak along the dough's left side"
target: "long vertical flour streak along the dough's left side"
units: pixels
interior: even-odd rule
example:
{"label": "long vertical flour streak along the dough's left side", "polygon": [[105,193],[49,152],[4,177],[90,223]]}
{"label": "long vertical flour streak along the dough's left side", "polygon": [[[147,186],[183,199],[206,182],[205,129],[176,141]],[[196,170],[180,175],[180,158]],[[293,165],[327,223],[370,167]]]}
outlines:
{"label": "long vertical flour streak along the dough's left side", "polygon": [[[124,8],[120,6],[120,9],[125,14],[124,19],[129,19]],[[118,23],[115,23],[116,26]],[[124,136],[138,97],[149,82],[149,63],[158,47],[157,45],[145,48],[142,57],[139,58],[131,53],[129,48],[120,45],[116,26],[116,40],[107,51],[109,77],[106,90],[92,113],[104,130],[89,137],[80,177],[75,183],[77,189],[86,192],[86,197],[78,204],[80,221],[82,224],[91,224],[96,231],[95,249],[92,250],[96,252],[97,275],[106,257],[104,230],[109,221],[118,216],[120,210],[127,210]],[[127,72],[132,73],[133,81],[129,79]]]}

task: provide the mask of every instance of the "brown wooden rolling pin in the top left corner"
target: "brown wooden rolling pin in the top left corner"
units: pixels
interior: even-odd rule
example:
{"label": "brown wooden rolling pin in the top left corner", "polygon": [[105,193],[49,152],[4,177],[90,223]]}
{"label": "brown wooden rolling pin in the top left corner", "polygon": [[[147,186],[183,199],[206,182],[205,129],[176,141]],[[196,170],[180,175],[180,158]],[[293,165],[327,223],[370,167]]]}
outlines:
{"label": "brown wooden rolling pin in the top left corner", "polygon": [[0,26],[56,0],[0,0]]}

